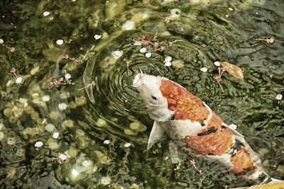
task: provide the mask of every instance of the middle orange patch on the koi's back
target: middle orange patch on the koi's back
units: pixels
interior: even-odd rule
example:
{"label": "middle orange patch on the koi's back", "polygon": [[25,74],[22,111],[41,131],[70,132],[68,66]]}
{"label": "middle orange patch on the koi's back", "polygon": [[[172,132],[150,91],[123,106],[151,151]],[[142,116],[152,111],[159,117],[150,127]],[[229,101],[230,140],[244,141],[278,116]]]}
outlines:
{"label": "middle orange patch on the koi's back", "polygon": [[222,128],[204,136],[186,136],[184,142],[195,154],[220,156],[231,147],[233,137],[229,129]]}

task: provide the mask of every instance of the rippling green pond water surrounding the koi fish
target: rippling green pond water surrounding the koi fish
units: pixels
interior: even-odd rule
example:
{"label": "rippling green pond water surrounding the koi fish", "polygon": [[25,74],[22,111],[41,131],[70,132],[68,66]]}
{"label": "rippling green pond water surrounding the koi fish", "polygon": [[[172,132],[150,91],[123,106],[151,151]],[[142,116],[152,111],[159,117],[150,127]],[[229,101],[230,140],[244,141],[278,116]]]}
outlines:
{"label": "rippling green pond water surrounding the koi fish", "polygon": [[[202,174],[190,156],[176,169],[166,137],[146,150],[153,121],[131,87],[139,69],[182,84],[238,125],[266,172],[284,179],[283,10],[281,0],[1,1],[0,188],[249,185],[202,158],[194,158]],[[133,45],[155,33],[164,50]],[[255,40],[268,37],[275,42]],[[222,92],[217,60],[241,67],[244,81],[225,73]],[[66,74],[66,85],[48,85]]]}

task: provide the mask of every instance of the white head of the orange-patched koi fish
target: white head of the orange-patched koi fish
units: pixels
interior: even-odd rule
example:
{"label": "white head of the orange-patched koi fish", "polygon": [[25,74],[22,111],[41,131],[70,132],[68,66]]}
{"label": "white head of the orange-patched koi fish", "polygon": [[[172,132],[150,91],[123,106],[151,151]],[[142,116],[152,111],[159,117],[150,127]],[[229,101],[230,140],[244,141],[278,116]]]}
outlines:
{"label": "white head of the orange-patched koi fish", "polygon": [[168,109],[168,101],[161,91],[160,85],[163,80],[168,80],[161,76],[152,76],[139,73],[133,79],[133,86],[136,87],[148,110],[148,115],[153,120],[166,121],[173,115],[173,111]]}

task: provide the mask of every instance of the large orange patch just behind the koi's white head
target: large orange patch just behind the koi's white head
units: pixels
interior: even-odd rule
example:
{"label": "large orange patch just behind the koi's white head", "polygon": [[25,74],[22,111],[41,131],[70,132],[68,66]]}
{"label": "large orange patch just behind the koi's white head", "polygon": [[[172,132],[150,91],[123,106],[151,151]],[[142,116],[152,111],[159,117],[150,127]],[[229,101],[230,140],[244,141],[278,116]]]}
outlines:
{"label": "large orange patch just behind the koi's white head", "polygon": [[167,98],[169,110],[175,111],[175,120],[191,120],[192,122],[206,120],[209,110],[200,98],[175,84],[170,80],[162,80],[160,91]]}

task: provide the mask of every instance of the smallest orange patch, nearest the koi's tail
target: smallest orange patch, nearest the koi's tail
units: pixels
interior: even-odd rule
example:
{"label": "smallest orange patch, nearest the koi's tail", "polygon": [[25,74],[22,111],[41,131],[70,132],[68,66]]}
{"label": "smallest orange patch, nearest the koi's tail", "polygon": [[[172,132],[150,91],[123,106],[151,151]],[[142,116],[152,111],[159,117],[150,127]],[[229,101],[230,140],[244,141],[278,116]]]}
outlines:
{"label": "smallest orange patch, nearest the koi's tail", "polygon": [[251,155],[243,147],[236,151],[236,154],[231,156],[231,164],[233,165],[233,173],[241,173],[247,168],[253,166],[253,161],[251,160]]}

